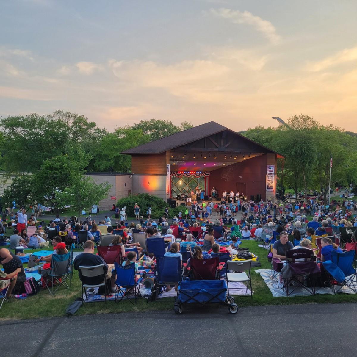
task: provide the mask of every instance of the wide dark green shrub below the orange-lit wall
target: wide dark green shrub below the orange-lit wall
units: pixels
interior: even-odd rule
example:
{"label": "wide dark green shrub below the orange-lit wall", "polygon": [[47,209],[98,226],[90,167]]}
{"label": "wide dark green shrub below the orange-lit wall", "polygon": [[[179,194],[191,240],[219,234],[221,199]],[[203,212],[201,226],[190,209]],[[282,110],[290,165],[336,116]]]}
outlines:
{"label": "wide dark green shrub below the orange-lit wall", "polygon": [[[168,207],[166,201],[157,196],[150,196],[148,193],[140,193],[137,196],[128,196],[121,198],[117,202],[117,206],[120,208],[126,207],[126,214],[128,217],[134,217],[134,207],[137,203],[140,207],[140,216],[147,217],[147,208],[151,207],[151,217],[158,219],[165,214],[165,208]],[[182,210],[182,216],[185,214],[186,207],[178,206],[176,208],[169,207],[169,217],[178,216],[180,210]]]}

